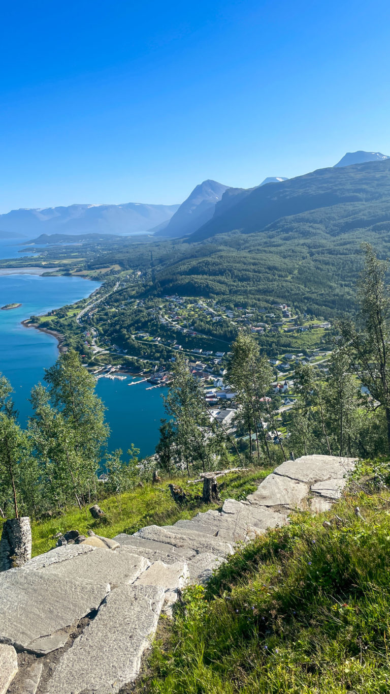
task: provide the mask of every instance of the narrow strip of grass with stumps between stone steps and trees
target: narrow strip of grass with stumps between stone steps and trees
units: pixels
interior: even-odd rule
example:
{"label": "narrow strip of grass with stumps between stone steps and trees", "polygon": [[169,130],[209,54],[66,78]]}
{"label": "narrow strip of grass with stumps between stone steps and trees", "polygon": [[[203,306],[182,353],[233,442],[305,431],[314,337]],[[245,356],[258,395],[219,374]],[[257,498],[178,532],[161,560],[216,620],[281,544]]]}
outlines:
{"label": "narrow strip of grass with stumps between stone steps and trees", "polygon": [[[255,491],[260,481],[270,472],[271,470],[266,468],[254,468],[220,477],[218,483],[220,505],[227,498],[245,498],[247,494]],[[173,501],[168,489],[170,482],[185,489],[188,496],[185,505],[179,506]],[[78,530],[82,534],[87,534],[88,530],[94,530],[97,534],[114,537],[120,532],[132,534],[145,525],[168,525],[179,521],[180,518],[193,518],[199,511],[218,508],[218,504],[209,506],[202,504],[200,495],[202,495],[202,483],[189,485],[186,484],[185,477],[178,477],[164,480],[162,484],[157,485],[144,483],[142,487],[136,487],[118,497],[109,496],[101,499],[99,505],[107,516],[104,523],[94,521],[88,506],[82,511],[73,507],[66,514],[47,521],[33,521],[32,555],[35,557],[53,548],[54,536],[57,532]]]}

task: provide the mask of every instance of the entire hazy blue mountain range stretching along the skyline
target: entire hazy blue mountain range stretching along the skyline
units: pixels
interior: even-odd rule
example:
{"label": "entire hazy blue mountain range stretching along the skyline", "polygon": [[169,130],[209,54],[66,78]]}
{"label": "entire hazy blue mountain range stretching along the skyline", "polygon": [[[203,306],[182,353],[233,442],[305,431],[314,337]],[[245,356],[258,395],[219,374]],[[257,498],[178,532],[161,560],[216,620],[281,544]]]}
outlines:
{"label": "entire hazy blue mountain range stretching along the skyline", "polygon": [[[181,205],[124,203],[11,210],[0,215],[0,235],[148,232],[159,238],[188,237],[191,241],[202,241],[231,230],[249,233],[280,217],[339,203],[356,203],[362,198],[357,180],[364,172],[353,171],[352,178],[342,172],[359,164],[387,160],[389,157],[380,152],[348,152],[333,168],[291,179],[272,176],[249,189],[204,180]],[[370,194],[375,196],[375,191]]]}

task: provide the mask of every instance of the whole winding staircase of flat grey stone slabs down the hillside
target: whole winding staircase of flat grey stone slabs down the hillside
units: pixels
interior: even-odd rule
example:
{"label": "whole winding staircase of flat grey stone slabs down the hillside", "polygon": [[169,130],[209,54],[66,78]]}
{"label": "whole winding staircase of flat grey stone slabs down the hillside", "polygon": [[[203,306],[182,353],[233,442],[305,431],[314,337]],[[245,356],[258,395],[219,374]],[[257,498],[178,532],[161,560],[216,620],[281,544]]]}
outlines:
{"label": "whole winding staircase of flat grey stone slabs down the hillside", "polygon": [[[161,613],[293,509],[330,509],[355,460],[287,461],[244,501],[114,541],[64,545],[0,573],[0,694],[114,694],[134,682]],[[109,545],[109,546],[107,546]]]}

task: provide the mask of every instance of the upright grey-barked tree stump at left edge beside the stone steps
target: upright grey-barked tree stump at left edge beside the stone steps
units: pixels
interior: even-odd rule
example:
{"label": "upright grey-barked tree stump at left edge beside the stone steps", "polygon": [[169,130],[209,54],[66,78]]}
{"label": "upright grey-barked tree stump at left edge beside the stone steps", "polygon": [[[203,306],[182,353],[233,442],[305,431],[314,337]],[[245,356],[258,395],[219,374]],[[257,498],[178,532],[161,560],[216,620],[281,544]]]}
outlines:
{"label": "upright grey-barked tree stump at left edge beside the stone steps", "polygon": [[0,571],[24,566],[31,559],[30,518],[10,518],[3,523],[0,541]]}

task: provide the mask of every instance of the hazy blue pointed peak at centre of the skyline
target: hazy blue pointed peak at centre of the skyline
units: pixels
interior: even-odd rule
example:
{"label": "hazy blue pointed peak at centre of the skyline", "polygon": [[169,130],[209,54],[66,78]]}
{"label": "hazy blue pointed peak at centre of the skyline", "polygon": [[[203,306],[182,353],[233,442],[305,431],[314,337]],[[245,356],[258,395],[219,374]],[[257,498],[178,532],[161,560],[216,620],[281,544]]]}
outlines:
{"label": "hazy blue pointed peak at centre of the skyline", "polygon": [[213,217],[215,205],[229,186],[216,180],[204,180],[175,212],[168,224],[156,231],[156,236],[180,237],[192,234]]}

